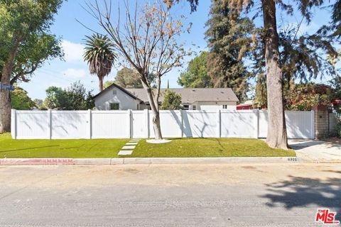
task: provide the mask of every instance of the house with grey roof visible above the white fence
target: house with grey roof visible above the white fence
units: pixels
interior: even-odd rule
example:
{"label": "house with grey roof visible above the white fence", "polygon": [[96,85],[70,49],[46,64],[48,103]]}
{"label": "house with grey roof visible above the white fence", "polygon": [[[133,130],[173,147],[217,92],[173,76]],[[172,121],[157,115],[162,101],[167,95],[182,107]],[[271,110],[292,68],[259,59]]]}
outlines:
{"label": "house with grey roof visible above the white fence", "polygon": [[[165,90],[161,89],[160,102],[163,101]],[[177,88],[171,90],[181,95],[185,110],[235,110],[239,101],[230,88]],[[97,110],[150,109],[144,89],[124,89],[117,84],[110,85],[94,96],[94,104]]]}

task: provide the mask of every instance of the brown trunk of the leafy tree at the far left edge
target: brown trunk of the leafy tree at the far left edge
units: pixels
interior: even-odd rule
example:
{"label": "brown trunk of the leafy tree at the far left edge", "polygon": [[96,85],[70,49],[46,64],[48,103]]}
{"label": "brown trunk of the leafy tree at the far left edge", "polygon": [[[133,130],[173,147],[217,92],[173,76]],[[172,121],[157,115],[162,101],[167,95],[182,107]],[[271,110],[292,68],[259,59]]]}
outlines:
{"label": "brown trunk of the leafy tree at the far left edge", "polygon": [[[20,40],[13,39],[13,48],[1,72],[1,83],[11,83],[11,73]],[[11,131],[11,96],[9,91],[0,90],[0,133]]]}

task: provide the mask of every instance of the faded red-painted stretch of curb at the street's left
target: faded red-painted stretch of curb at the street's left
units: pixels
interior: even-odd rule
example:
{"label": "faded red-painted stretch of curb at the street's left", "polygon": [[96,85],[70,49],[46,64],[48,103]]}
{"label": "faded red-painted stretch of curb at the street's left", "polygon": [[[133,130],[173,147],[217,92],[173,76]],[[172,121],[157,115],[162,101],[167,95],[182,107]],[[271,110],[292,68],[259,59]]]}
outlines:
{"label": "faded red-painted stretch of curb at the street's left", "polygon": [[3,158],[0,165],[75,165],[72,158]]}

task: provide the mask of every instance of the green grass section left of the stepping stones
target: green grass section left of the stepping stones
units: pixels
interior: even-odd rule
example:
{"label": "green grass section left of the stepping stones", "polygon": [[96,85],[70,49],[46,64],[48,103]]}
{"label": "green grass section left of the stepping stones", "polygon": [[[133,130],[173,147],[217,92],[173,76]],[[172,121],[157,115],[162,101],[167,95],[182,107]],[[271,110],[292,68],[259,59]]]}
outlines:
{"label": "green grass section left of the stepping stones", "polygon": [[18,157],[118,157],[129,139],[12,140],[0,134],[0,158]]}

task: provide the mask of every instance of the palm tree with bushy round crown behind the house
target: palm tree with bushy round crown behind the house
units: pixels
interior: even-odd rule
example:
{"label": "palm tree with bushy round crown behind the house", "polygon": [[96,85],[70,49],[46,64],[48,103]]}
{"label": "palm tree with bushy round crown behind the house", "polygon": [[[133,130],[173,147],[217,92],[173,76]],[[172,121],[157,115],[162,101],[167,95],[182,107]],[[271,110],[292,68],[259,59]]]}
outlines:
{"label": "palm tree with bushy round crown behind the house", "polygon": [[84,60],[89,65],[91,74],[97,74],[99,79],[99,91],[103,91],[103,78],[106,77],[114,65],[117,55],[114,52],[114,44],[107,35],[93,34],[85,39]]}

